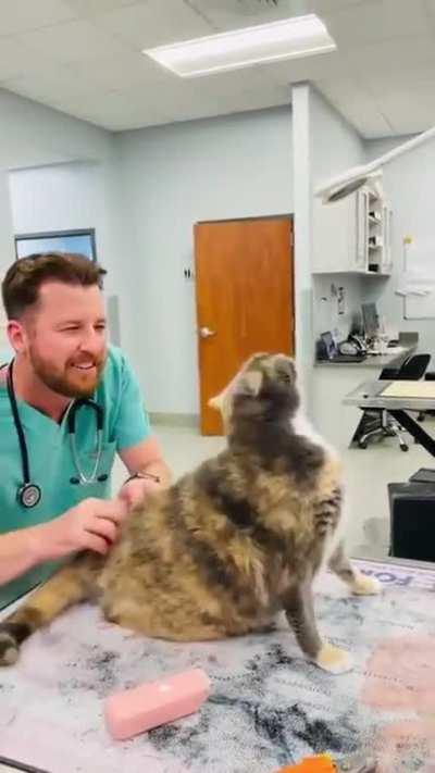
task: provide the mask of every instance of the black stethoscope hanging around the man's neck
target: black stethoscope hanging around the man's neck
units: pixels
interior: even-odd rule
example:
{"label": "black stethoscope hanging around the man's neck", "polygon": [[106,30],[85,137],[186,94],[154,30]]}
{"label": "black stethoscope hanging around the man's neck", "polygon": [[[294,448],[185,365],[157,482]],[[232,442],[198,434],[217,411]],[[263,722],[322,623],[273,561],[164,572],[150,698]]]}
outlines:
{"label": "black stethoscope hanging around the man's neck", "polygon": [[[11,404],[12,416],[15,425],[16,435],[20,445],[21,463],[23,471],[23,483],[18,486],[16,491],[16,498],[24,508],[34,508],[38,504],[42,497],[41,487],[37,483],[33,483],[30,478],[30,466],[28,462],[28,450],[26,437],[24,435],[23,424],[20,419],[18,407],[16,404],[15,390],[13,385],[13,360],[8,367],[7,375],[7,388],[8,397]],[[77,411],[87,406],[90,408],[96,415],[96,434],[97,434],[97,449],[96,449],[96,461],[90,475],[86,475],[80,465],[80,461],[77,452],[77,445],[75,440],[75,425]],[[70,437],[71,453],[73,457],[74,466],[76,469],[77,475],[70,478],[70,483],[74,485],[86,486],[97,482],[107,481],[109,475],[107,473],[98,474],[98,467],[100,466],[102,457],[102,431],[104,424],[104,412],[101,406],[99,406],[95,400],[88,398],[79,398],[74,400],[66,414],[66,428]]]}

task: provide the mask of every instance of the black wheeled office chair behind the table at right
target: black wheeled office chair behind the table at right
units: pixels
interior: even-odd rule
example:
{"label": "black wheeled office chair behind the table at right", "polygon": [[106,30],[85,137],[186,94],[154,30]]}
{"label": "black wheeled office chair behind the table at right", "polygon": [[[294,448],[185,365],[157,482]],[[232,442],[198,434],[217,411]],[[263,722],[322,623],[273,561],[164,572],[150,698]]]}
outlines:
{"label": "black wheeled office chair behind the table at right", "polygon": [[[410,354],[396,371],[393,371],[390,367],[385,367],[380,375],[380,379],[418,382],[420,378],[423,378],[430,361],[431,354]],[[376,426],[360,435],[358,438],[359,448],[366,448],[370,438],[381,436],[397,437],[400,450],[409,450],[409,446],[401,434],[402,428],[398,422],[389,415],[388,411],[384,408],[373,408],[369,411],[364,411],[363,417],[365,419],[365,416],[368,422],[372,419]]]}

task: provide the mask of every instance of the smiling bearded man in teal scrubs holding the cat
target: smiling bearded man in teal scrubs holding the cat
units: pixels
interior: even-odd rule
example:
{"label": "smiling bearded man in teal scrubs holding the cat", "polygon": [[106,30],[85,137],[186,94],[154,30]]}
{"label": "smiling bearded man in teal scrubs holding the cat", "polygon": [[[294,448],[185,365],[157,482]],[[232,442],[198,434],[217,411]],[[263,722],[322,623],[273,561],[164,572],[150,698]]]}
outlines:
{"label": "smiling bearded man in teal scrubs holding the cat", "polygon": [[[170,481],[136,376],[107,344],[104,273],[83,255],[45,253],[16,261],[2,283],[14,359],[0,370],[0,609],[65,557],[84,549],[104,554],[130,508]],[[100,454],[92,407],[77,410],[69,433],[79,398],[102,409]],[[115,453],[130,478],[111,499]],[[78,483],[82,475],[92,482]],[[40,493],[32,507],[23,502],[25,483]],[[24,499],[28,504],[32,496]]]}

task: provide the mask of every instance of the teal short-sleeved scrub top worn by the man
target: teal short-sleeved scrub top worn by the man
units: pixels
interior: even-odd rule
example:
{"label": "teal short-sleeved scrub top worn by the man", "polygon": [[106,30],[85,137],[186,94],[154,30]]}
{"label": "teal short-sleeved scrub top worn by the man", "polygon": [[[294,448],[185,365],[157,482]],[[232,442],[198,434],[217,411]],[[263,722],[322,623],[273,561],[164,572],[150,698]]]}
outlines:
{"label": "teal short-sleeved scrub top worn by the man", "polygon": [[[110,347],[95,400],[103,408],[102,454],[98,475],[108,479],[88,485],[74,485],[77,476],[66,428],[28,403],[17,399],[30,467],[32,483],[40,486],[42,497],[34,508],[24,508],[16,498],[23,484],[22,460],[7,385],[0,383],[0,535],[46,523],[88,497],[109,499],[111,471],[115,452],[129,448],[150,435],[148,415],[137,378],[122,351]],[[82,407],[76,413],[76,445],[79,465],[90,475],[96,460],[96,412]],[[59,563],[45,563],[0,586],[0,609],[47,579]]]}

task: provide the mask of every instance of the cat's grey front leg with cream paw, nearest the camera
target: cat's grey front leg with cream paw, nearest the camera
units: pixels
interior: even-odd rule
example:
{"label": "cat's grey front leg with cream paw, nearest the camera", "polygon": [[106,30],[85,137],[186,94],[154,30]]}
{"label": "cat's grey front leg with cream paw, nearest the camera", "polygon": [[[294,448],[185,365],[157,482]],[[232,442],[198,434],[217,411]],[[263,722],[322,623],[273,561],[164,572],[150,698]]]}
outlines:
{"label": "cat's grey front leg with cream paw, nearest the camera", "polygon": [[349,653],[324,641],[319,634],[311,581],[307,579],[288,588],[283,603],[289,625],[304,654],[321,669],[333,674],[349,671]]}

